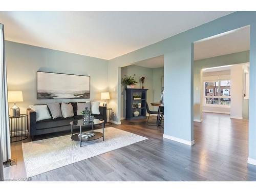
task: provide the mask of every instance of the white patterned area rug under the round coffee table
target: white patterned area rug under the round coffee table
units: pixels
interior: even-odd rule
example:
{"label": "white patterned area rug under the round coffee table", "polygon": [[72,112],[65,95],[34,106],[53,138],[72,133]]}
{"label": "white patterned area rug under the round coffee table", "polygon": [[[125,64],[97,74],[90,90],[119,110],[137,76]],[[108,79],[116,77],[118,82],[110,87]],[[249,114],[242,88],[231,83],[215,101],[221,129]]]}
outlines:
{"label": "white patterned area rug under the round coffee table", "polygon": [[[95,130],[102,133],[102,129]],[[22,143],[27,176],[32,177],[147,139],[114,127],[104,129],[105,140],[71,141],[71,135]]]}

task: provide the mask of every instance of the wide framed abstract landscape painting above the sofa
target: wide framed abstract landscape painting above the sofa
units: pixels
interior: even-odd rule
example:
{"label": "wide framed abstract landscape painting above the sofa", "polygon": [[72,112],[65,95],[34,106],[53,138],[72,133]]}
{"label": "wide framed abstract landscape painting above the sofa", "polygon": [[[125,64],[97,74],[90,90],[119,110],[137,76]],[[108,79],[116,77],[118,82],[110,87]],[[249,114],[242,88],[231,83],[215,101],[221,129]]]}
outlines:
{"label": "wide framed abstract landscape painting above the sofa", "polygon": [[90,76],[37,72],[37,99],[89,99]]}

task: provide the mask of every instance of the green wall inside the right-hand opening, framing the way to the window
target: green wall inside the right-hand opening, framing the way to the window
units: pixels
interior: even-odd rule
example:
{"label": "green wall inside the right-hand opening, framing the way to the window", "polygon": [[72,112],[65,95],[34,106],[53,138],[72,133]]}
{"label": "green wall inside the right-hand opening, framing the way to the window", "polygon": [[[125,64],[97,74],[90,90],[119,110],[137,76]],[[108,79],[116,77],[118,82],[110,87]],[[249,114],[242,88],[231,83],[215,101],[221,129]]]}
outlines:
{"label": "green wall inside the right-hand opening, framing the way to the window", "polygon": [[194,61],[194,119],[202,119],[201,69],[249,62],[249,54],[243,51]]}

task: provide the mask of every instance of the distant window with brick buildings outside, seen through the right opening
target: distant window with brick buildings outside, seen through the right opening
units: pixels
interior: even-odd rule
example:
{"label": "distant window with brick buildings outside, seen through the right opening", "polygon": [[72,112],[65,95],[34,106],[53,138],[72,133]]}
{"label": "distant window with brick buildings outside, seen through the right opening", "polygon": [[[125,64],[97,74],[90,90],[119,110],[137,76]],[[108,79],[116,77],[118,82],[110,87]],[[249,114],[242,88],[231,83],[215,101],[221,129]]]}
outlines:
{"label": "distant window with brick buildings outside, seen through the right opening", "polygon": [[230,106],[230,80],[204,82],[204,102],[210,106]]}

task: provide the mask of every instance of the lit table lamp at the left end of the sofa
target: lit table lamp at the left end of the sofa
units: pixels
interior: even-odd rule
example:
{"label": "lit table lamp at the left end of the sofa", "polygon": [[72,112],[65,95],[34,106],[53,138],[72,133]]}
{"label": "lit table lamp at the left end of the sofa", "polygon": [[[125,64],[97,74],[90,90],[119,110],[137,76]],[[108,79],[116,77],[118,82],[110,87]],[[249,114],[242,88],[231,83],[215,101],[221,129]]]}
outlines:
{"label": "lit table lamp at the left end of the sofa", "polygon": [[22,91],[8,91],[8,102],[14,102],[14,105],[12,108],[10,108],[10,116],[12,117],[19,117],[20,112],[19,108],[16,105],[16,102],[22,102],[23,101],[23,95]]}

